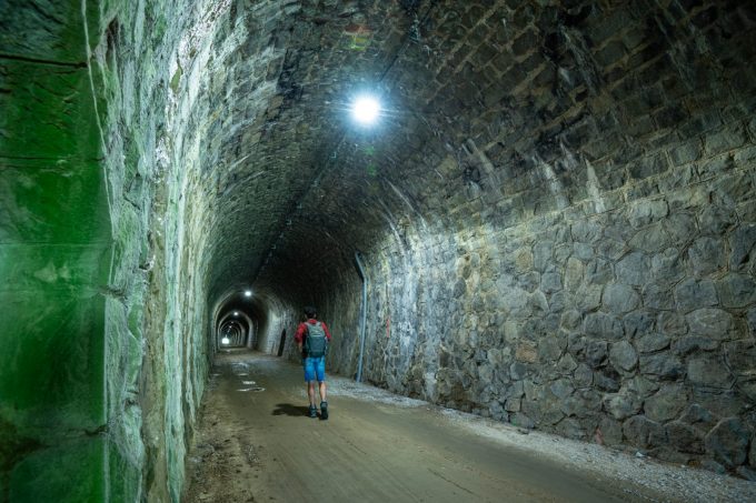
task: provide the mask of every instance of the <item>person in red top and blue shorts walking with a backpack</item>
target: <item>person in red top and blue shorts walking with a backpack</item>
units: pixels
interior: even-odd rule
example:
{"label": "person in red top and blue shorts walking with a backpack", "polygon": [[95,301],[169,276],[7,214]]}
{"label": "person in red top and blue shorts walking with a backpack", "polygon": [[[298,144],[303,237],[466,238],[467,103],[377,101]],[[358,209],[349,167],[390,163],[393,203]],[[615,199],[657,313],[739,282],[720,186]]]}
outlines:
{"label": "person in red top and blue shorts walking with a backpack", "polygon": [[326,398],[326,353],[330,342],[330,332],[326,323],[318,321],[315,308],[305,308],[307,321],[299,323],[294,338],[297,348],[302,355],[305,366],[305,381],[307,382],[307,396],[310,400],[309,416],[318,416],[316,406],[315,381],[318,381],[320,392],[320,419],[328,419],[328,400]]}

